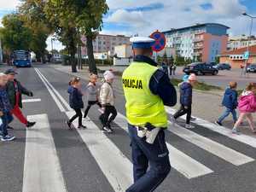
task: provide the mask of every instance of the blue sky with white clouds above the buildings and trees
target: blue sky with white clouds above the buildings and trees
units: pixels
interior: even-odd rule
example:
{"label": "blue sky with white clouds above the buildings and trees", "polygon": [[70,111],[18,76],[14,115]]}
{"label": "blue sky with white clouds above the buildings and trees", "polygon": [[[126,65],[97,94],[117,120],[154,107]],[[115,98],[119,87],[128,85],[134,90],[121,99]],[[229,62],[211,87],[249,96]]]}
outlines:
{"label": "blue sky with white clouds above the buildings and trees", "polygon": [[[107,3],[104,34],[148,36],[157,29],[166,31],[216,22],[230,26],[230,36],[236,36],[249,31],[249,19],[241,13],[256,15],[256,0],[107,0]],[[0,0],[0,20],[15,11],[18,4],[18,0]],[[256,34],[256,20],[253,34]],[[60,44],[55,43],[55,48],[60,49]]]}

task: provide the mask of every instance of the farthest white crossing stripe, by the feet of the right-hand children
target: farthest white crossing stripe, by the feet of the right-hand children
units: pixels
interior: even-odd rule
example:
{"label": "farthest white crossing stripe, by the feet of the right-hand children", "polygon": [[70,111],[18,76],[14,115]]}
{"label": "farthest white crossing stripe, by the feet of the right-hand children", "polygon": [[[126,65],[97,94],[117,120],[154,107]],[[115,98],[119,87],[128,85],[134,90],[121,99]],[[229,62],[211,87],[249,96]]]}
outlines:
{"label": "farthest white crossing stripe, by the feet of the right-hand children", "polygon": [[[170,113],[172,115],[176,111],[172,108],[166,108],[166,112]],[[181,119],[185,119],[185,117],[182,116]],[[243,135],[243,134],[241,134],[241,135],[232,134],[231,130],[228,128],[215,125],[207,120],[200,119],[197,117],[196,117],[195,121],[193,121],[193,123],[195,123],[196,125],[201,125],[201,126],[207,128],[208,130],[218,132],[219,134],[221,134],[225,137],[230,137],[231,139],[234,139],[240,143],[245,143],[253,148],[256,148],[256,139],[254,137],[250,137],[250,136]]]}

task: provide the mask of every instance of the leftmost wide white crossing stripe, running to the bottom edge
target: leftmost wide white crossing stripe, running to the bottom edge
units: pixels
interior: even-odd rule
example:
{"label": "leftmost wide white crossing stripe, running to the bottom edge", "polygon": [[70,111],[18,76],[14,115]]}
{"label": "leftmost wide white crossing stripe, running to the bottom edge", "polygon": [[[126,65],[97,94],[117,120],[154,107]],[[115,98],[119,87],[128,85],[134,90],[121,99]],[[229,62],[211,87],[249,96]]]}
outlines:
{"label": "leftmost wide white crossing stripe, running to the bottom edge", "polygon": [[27,117],[37,121],[26,130],[23,192],[67,192],[47,114]]}

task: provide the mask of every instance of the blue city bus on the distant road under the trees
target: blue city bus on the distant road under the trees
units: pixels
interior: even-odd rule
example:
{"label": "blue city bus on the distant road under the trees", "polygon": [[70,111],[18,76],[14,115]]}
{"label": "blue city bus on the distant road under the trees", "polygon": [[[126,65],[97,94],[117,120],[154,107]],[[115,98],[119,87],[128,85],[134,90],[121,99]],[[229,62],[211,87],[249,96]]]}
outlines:
{"label": "blue city bus on the distant road under the trees", "polygon": [[15,67],[31,67],[31,55],[27,50],[15,50],[13,53]]}

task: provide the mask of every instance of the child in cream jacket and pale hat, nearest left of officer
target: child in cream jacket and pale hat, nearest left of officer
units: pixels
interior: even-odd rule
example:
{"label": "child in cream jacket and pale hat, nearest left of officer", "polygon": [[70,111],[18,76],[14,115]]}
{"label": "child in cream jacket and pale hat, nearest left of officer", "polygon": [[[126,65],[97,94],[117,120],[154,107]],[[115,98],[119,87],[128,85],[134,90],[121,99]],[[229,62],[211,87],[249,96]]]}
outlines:
{"label": "child in cream jacket and pale hat, nearest left of officer", "polygon": [[[113,95],[113,79],[114,75],[110,71],[106,71],[104,74],[104,83],[100,91],[100,100],[102,103],[102,115],[100,120],[102,122],[102,131],[111,133],[113,129],[111,128],[111,122],[117,116],[117,111],[114,108],[114,95]],[[112,114],[109,118],[109,115]]]}

